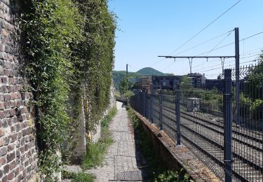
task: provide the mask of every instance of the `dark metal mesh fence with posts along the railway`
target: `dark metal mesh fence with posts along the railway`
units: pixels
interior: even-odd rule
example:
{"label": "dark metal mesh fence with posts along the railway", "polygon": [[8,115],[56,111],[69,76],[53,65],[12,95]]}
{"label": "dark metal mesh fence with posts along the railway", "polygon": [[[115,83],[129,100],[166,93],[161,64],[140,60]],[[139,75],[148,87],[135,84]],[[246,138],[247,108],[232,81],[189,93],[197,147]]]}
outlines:
{"label": "dark metal mesh fence with posts along the railway", "polygon": [[173,91],[140,92],[130,105],[222,181],[263,181],[263,67],[238,75],[225,69],[222,80],[201,87],[184,78]]}

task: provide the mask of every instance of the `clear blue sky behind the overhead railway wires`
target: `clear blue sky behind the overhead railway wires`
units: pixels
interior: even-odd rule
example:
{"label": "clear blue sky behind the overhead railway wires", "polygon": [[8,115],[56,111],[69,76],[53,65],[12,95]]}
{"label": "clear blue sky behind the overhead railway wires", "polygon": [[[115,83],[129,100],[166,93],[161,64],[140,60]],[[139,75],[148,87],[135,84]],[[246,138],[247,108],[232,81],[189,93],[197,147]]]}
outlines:
{"label": "clear blue sky behind the overhead railway wires", "polygon": [[[109,10],[119,17],[116,32],[115,70],[137,71],[152,67],[165,73],[189,73],[188,59],[162,59],[170,55],[198,31],[215,20],[238,0],[110,0]],[[219,20],[196,36],[179,52],[210,38],[239,27],[240,39],[263,31],[263,1],[242,0]],[[227,33],[180,55],[199,55],[234,42],[234,32]],[[241,65],[252,64],[263,48],[263,34],[240,42]],[[234,55],[229,45],[205,55]],[[246,57],[246,58],[245,58]],[[245,63],[242,63],[245,62]],[[225,68],[234,67],[234,59],[225,59]],[[208,78],[222,72],[220,59],[194,59],[193,72],[205,73]]]}

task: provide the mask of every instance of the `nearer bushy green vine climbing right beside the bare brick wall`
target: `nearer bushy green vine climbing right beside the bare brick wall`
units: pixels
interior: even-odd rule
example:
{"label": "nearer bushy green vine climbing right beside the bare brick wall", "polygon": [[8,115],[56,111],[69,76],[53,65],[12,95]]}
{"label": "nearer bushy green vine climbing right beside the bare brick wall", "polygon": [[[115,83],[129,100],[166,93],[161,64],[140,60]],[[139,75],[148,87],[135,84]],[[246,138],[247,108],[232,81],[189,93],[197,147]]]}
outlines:
{"label": "nearer bushy green vine climbing right beside the bare brick wall", "polygon": [[67,97],[72,78],[72,47],[81,39],[79,11],[67,0],[20,1],[25,76],[34,95],[39,170],[46,181],[60,171],[67,138]]}

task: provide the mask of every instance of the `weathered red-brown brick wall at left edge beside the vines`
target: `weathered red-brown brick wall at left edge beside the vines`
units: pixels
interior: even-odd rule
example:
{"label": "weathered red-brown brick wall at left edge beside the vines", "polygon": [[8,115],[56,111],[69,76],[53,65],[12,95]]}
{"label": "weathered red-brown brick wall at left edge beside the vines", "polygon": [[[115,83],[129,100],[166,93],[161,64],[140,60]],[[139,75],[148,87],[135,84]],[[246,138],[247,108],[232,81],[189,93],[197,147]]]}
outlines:
{"label": "weathered red-brown brick wall at left edge beside the vines", "polygon": [[22,92],[18,24],[10,0],[0,0],[0,181],[29,181],[36,173],[34,120]]}

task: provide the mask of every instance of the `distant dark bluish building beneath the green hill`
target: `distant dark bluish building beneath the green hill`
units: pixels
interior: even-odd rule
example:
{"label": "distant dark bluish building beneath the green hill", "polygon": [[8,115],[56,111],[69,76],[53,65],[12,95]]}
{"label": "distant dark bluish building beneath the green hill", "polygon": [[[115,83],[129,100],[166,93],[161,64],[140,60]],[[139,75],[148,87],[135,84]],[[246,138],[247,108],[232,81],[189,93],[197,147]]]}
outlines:
{"label": "distant dark bluish building beneath the green hill", "polygon": [[151,88],[152,90],[173,90],[180,80],[180,76],[151,76]]}

